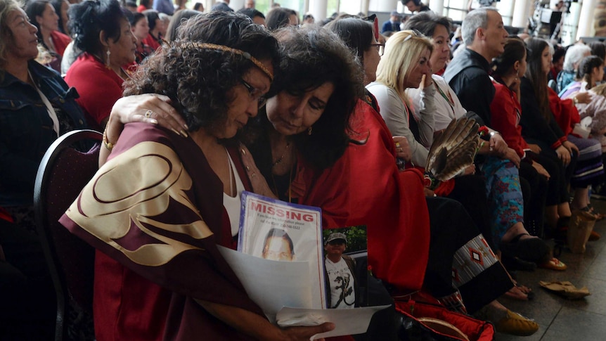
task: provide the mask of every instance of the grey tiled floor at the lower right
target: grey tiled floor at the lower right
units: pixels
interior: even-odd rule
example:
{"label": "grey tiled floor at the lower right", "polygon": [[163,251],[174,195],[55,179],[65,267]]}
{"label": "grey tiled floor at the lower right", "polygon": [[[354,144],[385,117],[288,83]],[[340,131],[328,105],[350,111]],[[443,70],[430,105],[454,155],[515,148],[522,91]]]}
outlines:
{"label": "grey tiled floor at the lower right", "polygon": [[[606,212],[606,201],[591,202],[599,212]],[[532,288],[534,300],[521,302],[503,297],[499,301],[512,311],[531,317],[541,328],[529,337],[497,333],[496,340],[606,340],[606,219],[598,221],[594,231],[602,234],[602,238],[588,242],[583,255],[562,252],[559,259],[568,265],[566,271],[517,271],[517,281]],[[586,286],[591,295],[567,300],[541,288],[539,281],[570,281],[576,288]]]}

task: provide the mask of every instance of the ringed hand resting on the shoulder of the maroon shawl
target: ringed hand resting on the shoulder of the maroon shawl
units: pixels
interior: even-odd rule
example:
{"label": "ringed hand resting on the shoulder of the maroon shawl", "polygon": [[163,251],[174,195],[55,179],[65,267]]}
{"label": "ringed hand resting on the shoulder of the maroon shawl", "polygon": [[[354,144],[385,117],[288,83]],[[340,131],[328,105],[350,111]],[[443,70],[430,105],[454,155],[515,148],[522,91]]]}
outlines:
{"label": "ringed hand resting on the shoulder of the maroon shawl", "polygon": [[[115,117],[116,119],[113,119]],[[170,98],[158,94],[143,94],[120,98],[110,113],[110,122],[127,124],[147,122],[171,129],[175,134],[187,136],[187,124],[172,107]]]}

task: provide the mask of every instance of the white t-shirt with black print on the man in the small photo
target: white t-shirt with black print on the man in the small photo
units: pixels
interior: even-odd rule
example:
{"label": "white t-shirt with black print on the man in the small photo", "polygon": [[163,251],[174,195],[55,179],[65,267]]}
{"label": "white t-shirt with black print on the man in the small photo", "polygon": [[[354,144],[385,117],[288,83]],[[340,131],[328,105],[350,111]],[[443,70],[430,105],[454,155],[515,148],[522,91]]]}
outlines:
{"label": "white t-shirt with black print on the man in the small photo", "polygon": [[330,286],[330,305],[332,307],[329,308],[353,308],[356,303],[355,279],[349,266],[343,258],[337,263],[326,258],[324,264]]}

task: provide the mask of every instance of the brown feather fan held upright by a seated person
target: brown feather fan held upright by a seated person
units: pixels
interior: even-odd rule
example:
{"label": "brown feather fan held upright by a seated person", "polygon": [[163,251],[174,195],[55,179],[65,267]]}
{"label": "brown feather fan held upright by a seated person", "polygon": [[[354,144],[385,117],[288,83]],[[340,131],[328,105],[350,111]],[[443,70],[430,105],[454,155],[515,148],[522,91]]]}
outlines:
{"label": "brown feather fan held upright by a seated person", "polygon": [[478,129],[472,118],[452,120],[432,143],[425,172],[434,179],[447,181],[472,165],[479,143]]}

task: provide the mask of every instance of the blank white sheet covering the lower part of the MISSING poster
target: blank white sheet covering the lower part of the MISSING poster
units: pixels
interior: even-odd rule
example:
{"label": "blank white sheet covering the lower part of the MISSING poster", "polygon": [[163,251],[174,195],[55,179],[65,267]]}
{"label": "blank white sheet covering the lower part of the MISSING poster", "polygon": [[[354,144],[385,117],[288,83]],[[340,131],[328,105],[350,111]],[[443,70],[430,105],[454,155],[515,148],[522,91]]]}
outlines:
{"label": "blank white sheet covering the lower part of the MISSING poster", "polygon": [[271,323],[283,307],[311,308],[308,262],[277,262],[217,245],[219,252]]}

